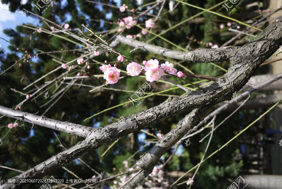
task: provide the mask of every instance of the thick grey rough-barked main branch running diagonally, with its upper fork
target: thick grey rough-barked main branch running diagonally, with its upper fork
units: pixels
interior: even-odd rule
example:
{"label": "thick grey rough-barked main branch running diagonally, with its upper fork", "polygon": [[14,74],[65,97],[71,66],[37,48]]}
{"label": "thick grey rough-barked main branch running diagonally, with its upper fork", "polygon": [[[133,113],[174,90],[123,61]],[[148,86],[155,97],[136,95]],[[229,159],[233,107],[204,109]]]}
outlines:
{"label": "thick grey rough-barked main branch running diagonally, with its upper fork", "polygon": [[[220,78],[220,81],[206,87],[205,92],[197,90],[187,93],[183,97],[175,97],[158,106],[150,108],[149,110],[144,110],[138,114],[123,118],[119,122],[95,129],[91,132],[91,138],[86,138],[83,142],[76,144],[74,147],[65,150],[56,156],[53,156],[49,160],[31,168],[18,177],[31,178],[45,176],[60,166],[66,165],[71,160],[99,148],[104,143],[116,140],[128,135],[129,133],[139,131],[140,129],[152,124],[167,120],[180,113],[189,113],[196,108],[197,110],[194,111],[204,110],[205,108],[212,107],[219,102],[230,99],[232,93],[241,89],[248,82],[248,79],[253,75],[259,65],[268,59],[282,44],[282,32],[280,32],[282,30],[281,23],[282,17],[275,20],[274,23],[270,24],[259,36],[242,47],[226,47],[213,50],[198,49],[190,52],[171,52],[168,50],[168,52],[166,52],[167,50],[154,46],[154,48],[163,56],[172,55],[172,57],[177,59],[183,60],[185,58],[185,60],[193,60],[196,62],[221,62],[223,60],[229,60],[230,67],[228,72]],[[119,36],[118,39],[122,39],[122,37]],[[130,39],[129,45],[133,46],[133,44],[138,43],[140,42]],[[154,50],[154,48],[152,50]],[[148,50],[151,51],[151,49]],[[205,109],[204,112],[210,111],[210,109]],[[199,111],[199,113],[200,112],[201,111]],[[203,114],[206,114],[204,112]],[[197,118],[198,120],[203,118],[201,115],[191,116],[193,119]],[[196,124],[197,122],[191,122],[190,127],[193,127],[192,124]],[[39,125],[40,124],[41,123],[39,123]],[[166,141],[167,140],[163,140],[158,145],[164,146],[162,143]],[[156,147],[154,149],[159,150]],[[154,149],[150,150],[150,154],[145,156],[150,157],[154,161],[150,162],[150,165],[154,165],[158,159],[157,156],[154,157],[154,154],[160,154],[159,151],[155,153]],[[144,167],[142,163],[140,163],[140,166]],[[135,182],[136,180],[134,179],[134,184],[133,181],[128,183],[128,186],[130,186],[128,188],[133,188],[133,186],[144,179],[150,171],[150,169],[145,169],[144,176],[137,176],[136,179],[138,179],[138,181]],[[3,185],[2,187],[12,188],[14,186]],[[19,185],[17,188],[22,187],[23,185]]]}

